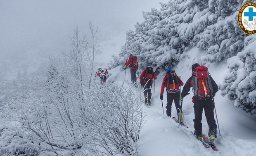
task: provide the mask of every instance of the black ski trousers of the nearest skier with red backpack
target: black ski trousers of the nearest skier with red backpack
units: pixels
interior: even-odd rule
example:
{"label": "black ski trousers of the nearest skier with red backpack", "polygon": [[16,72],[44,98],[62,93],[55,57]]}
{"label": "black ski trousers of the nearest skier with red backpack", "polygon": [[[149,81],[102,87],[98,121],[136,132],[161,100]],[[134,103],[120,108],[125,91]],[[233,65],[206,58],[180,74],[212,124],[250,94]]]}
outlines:
{"label": "black ski trousers of the nearest skier with red backpack", "polygon": [[214,119],[214,104],[211,98],[200,100],[195,99],[194,102],[194,129],[196,135],[202,134],[202,113],[204,109],[204,114],[207,120],[207,124],[209,126],[208,135],[216,135],[217,136],[217,125]]}

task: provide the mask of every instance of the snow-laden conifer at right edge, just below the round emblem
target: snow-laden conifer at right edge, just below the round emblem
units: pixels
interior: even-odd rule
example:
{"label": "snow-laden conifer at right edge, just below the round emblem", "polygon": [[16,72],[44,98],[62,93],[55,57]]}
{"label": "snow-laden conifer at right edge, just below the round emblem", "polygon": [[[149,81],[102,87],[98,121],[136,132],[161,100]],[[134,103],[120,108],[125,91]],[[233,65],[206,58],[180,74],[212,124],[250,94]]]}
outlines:
{"label": "snow-laden conifer at right edge, just below the round emblem", "polygon": [[235,100],[235,106],[251,114],[256,113],[256,37],[244,40],[244,50],[228,59],[229,73],[220,87],[223,96]]}

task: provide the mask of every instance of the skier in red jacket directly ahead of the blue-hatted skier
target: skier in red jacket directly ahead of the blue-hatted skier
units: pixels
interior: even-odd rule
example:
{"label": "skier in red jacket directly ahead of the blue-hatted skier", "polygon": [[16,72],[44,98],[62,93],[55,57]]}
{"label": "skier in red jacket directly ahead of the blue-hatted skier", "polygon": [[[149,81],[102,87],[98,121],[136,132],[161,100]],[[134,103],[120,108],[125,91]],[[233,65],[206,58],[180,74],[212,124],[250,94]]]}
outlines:
{"label": "skier in red jacket directly ahead of the blue-hatted skier", "polygon": [[153,84],[153,79],[156,80],[156,73],[153,68],[148,66],[140,75],[140,85],[143,87],[145,104],[151,105],[151,88]]}

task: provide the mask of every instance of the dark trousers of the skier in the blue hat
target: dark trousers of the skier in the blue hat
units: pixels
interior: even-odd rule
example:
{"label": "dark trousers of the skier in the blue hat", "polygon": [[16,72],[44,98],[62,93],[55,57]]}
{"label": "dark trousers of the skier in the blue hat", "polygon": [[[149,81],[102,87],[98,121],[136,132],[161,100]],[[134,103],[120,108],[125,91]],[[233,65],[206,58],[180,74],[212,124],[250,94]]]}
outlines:
{"label": "dark trousers of the skier in the blue hat", "polygon": [[166,108],[166,115],[171,117],[171,106],[173,104],[173,100],[175,103],[175,107],[177,110],[177,115],[180,112],[180,92],[176,92],[176,93],[168,93],[167,92],[167,106]]}

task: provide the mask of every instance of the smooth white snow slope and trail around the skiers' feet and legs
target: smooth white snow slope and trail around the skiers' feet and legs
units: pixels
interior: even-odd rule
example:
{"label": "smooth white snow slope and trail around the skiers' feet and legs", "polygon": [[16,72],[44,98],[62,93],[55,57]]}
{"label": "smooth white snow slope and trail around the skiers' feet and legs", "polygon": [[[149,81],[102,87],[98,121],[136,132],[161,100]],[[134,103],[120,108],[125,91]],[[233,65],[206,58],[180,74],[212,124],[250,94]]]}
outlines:
{"label": "smooth white snow slope and trail around the skiers' feet and legs", "polygon": [[[204,53],[199,53],[197,48],[193,48],[192,50],[183,53],[183,55],[183,59],[177,67],[173,68],[173,70],[181,76],[181,79],[185,83],[191,76],[191,65],[196,62],[200,64],[201,57],[204,56]],[[209,67],[209,72],[217,84],[223,81],[223,75],[228,71],[227,63],[225,62],[218,64],[206,64],[206,67]],[[109,72],[111,73],[111,76],[109,76],[108,80],[116,80],[119,83],[123,82],[125,71],[120,71],[120,67],[116,67]],[[140,139],[138,141],[138,144],[141,145],[139,153],[141,156],[255,155],[255,115],[250,115],[240,108],[235,108],[234,101],[230,101],[227,97],[221,96],[220,91],[218,91],[214,100],[216,103],[215,106],[221,136],[218,134],[215,144],[221,153],[213,152],[211,148],[205,148],[201,145],[201,142],[197,141],[191,133],[191,131],[194,131],[194,109],[191,101],[193,94],[192,91],[190,91],[190,95],[183,99],[182,106],[183,122],[188,126],[188,128],[184,128],[183,126],[178,128],[178,123],[175,123],[173,119],[166,116],[166,92],[164,93],[163,100],[163,115],[163,108],[161,100],[159,99],[163,78],[164,74],[161,73],[157,76],[155,88],[154,84],[152,86],[152,107],[148,108],[142,103],[146,122],[141,129]],[[130,70],[126,69],[126,82],[130,81]],[[139,79],[137,79],[137,82],[139,82]],[[172,115],[177,117],[174,103],[172,105]],[[202,118],[203,133],[207,135],[208,125],[204,113]]]}

